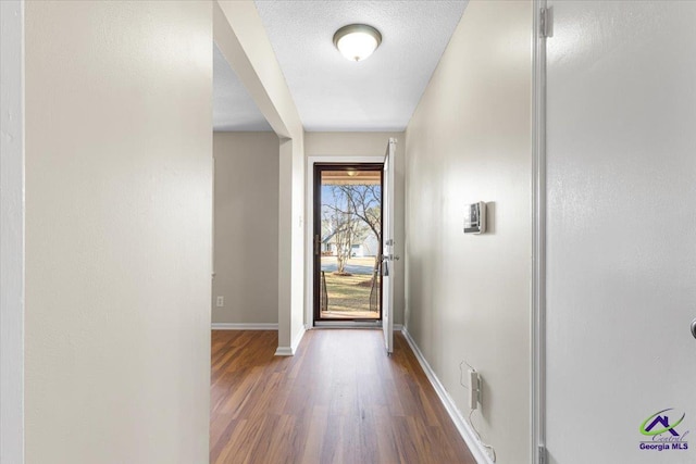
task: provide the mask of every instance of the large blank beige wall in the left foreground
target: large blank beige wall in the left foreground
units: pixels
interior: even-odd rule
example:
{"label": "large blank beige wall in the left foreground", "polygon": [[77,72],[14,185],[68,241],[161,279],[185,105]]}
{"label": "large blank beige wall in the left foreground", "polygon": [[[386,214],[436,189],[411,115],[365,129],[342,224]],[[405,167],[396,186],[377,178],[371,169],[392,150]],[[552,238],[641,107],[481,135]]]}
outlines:
{"label": "large blank beige wall in the left foreground", "polygon": [[212,10],[26,4],[26,462],[208,461]]}

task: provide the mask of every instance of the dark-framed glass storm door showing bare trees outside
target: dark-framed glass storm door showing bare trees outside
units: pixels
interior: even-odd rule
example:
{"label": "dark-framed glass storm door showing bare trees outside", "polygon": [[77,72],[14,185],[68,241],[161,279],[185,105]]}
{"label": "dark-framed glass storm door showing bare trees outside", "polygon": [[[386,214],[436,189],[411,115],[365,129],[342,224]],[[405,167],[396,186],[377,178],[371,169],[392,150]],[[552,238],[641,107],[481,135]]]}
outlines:
{"label": "dark-framed glass storm door showing bare trees outside", "polygon": [[382,321],[383,166],[314,164],[314,324]]}

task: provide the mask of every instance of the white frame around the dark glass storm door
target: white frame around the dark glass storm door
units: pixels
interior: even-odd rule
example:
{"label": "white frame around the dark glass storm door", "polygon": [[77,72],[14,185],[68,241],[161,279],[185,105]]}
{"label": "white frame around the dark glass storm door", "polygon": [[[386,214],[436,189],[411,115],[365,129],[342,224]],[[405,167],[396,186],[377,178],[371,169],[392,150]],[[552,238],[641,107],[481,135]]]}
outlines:
{"label": "white frame around the dark glass storm door", "polygon": [[[307,173],[311,175],[304,176],[304,217],[307,217],[307,225],[304,227],[304,328],[311,329],[314,327],[314,164],[381,164],[384,162],[384,155],[378,154],[374,156],[307,156]],[[360,323],[360,322],[323,322],[322,326],[336,325],[345,327],[376,327],[374,323]]]}

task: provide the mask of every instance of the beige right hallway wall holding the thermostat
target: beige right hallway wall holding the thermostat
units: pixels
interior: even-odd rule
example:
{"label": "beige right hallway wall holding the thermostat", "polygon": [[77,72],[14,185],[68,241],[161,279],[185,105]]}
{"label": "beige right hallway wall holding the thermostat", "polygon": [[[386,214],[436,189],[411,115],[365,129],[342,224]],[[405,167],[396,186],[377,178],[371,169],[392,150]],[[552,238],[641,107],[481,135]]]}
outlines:
{"label": "beige right hallway wall holding the thermostat", "polygon": [[[532,3],[472,1],[406,131],[406,325],[498,463],[530,461]],[[464,204],[489,231],[464,236]]]}

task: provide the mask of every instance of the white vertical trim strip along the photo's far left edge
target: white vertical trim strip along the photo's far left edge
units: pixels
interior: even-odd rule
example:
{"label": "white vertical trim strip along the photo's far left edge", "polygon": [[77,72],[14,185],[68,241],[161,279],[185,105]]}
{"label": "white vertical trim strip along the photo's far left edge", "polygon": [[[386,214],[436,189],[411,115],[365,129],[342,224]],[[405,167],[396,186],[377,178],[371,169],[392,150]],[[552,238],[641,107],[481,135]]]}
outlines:
{"label": "white vertical trim strip along the photo's far left edge", "polygon": [[24,463],[24,1],[0,1],[0,462]]}

